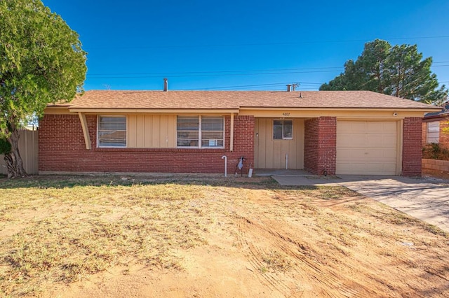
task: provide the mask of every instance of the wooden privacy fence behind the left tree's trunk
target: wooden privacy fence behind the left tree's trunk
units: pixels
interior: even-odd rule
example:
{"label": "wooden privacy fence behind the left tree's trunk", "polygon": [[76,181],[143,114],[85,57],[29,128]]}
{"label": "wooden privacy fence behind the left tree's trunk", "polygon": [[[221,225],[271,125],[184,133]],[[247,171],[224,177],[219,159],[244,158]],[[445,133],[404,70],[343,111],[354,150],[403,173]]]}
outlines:
{"label": "wooden privacy fence behind the left tree's trunk", "polygon": [[[37,130],[22,129],[19,132],[19,151],[25,171],[29,174],[39,173],[39,137]],[[6,175],[4,155],[0,155],[0,173]]]}

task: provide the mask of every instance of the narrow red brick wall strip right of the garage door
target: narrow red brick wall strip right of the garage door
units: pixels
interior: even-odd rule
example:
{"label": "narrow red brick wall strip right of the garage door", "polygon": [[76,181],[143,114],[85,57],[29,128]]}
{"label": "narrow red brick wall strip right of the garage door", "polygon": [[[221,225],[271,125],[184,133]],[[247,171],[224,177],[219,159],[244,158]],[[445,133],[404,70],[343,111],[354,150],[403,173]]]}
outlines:
{"label": "narrow red brick wall strip right of the garage door", "polygon": [[403,126],[402,176],[421,176],[422,118],[407,117]]}

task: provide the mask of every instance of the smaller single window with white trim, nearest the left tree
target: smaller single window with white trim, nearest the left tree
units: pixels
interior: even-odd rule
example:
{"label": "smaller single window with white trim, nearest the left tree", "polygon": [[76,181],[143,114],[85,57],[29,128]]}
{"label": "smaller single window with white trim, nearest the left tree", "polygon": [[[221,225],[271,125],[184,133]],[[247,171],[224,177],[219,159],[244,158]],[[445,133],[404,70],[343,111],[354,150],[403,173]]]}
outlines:
{"label": "smaller single window with white trim, nearest the left tree", "polygon": [[126,116],[98,116],[98,147],[126,147]]}

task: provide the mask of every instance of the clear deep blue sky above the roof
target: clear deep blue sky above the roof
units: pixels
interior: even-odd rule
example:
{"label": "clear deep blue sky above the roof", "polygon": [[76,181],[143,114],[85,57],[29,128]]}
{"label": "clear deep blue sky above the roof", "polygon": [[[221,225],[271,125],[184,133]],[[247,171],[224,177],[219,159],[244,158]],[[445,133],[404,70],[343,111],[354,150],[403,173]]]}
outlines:
{"label": "clear deep blue sky above the roof", "polygon": [[449,1],[43,0],[88,52],[85,90],[318,90],[375,38],[449,85]]}

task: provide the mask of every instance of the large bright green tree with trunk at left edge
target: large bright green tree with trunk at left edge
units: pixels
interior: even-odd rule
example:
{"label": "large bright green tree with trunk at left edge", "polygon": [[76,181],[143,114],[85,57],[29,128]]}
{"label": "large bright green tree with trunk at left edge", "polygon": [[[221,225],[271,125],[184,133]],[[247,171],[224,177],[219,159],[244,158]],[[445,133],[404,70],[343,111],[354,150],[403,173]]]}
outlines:
{"label": "large bright green tree with trunk at left edge", "polygon": [[18,129],[48,103],[83,92],[78,34],[40,0],[0,0],[0,153],[8,177],[26,176]]}

